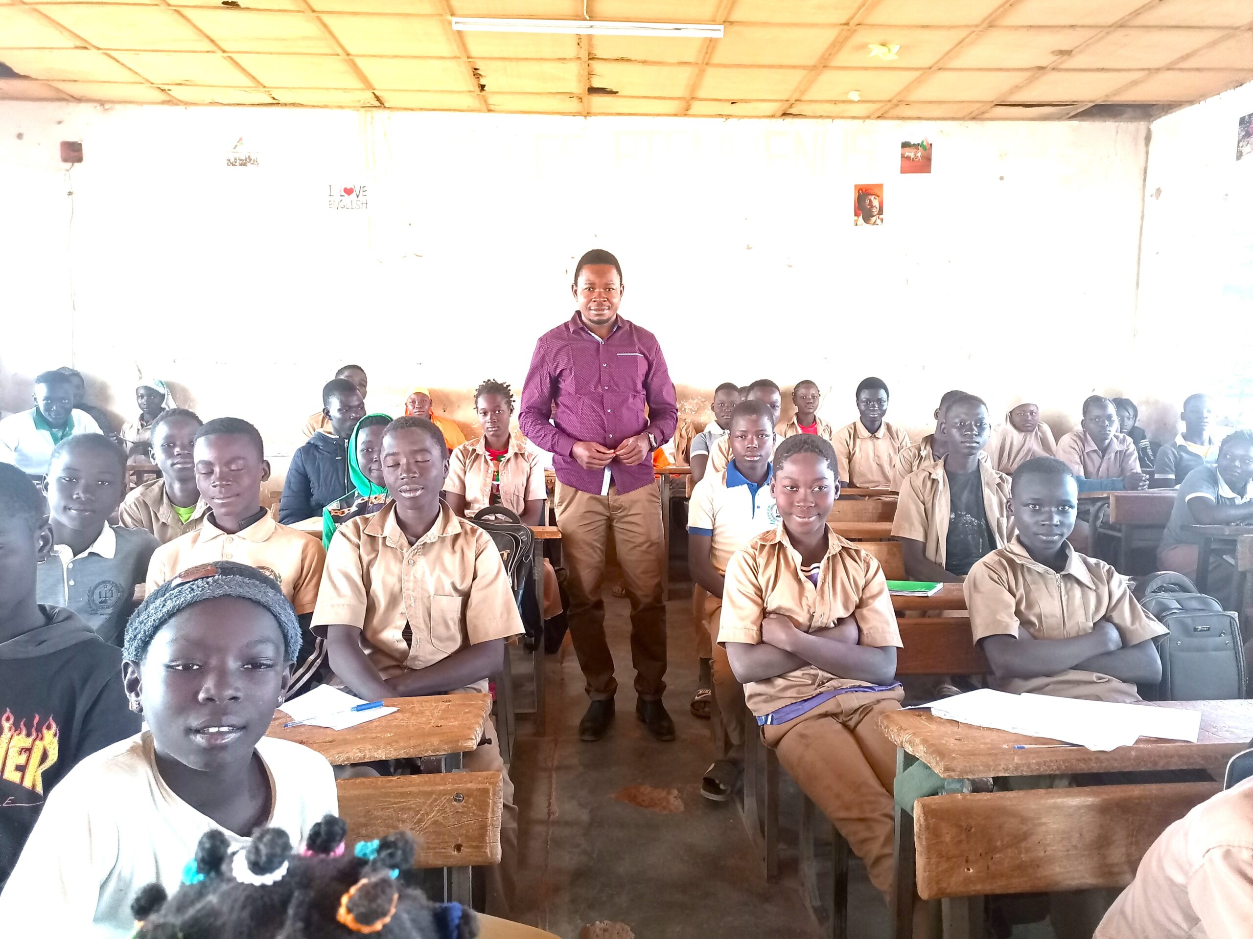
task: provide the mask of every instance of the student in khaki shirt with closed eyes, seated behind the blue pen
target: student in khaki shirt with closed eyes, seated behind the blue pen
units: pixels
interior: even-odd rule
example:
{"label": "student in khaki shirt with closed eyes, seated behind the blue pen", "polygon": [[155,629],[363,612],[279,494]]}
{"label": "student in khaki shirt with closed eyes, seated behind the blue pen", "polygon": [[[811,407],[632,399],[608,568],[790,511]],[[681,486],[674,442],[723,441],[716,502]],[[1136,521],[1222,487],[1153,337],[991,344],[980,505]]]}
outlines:
{"label": "student in khaki shirt with closed eyes, seated behind the blue pen", "polygon": [[[313,630],[331,669],[366,700],[486,691],[505,667],[505,642],[523,621],[500,553],[485,531],[440,500],[449,472],[440,428],[400,417],[383,433],[391,500],[345,522],[331,538]],[[501,863],[489,870],[487,906],[509,909],[517,845],[514,785],[491,721],[467,770],[502,775]]]}

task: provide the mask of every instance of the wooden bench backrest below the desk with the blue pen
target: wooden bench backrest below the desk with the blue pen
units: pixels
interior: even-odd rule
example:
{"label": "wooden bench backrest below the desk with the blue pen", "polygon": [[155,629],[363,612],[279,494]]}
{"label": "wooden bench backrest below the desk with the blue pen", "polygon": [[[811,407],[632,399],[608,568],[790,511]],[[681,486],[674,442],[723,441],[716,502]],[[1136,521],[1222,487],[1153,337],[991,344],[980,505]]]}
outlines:
{"label": "wooden bench backrest below the desk with the blue pen", "polygon": [[353,841],[408,831],[417,839],[416,868],[500,863],[499,772],[341,779],[335,786]]}

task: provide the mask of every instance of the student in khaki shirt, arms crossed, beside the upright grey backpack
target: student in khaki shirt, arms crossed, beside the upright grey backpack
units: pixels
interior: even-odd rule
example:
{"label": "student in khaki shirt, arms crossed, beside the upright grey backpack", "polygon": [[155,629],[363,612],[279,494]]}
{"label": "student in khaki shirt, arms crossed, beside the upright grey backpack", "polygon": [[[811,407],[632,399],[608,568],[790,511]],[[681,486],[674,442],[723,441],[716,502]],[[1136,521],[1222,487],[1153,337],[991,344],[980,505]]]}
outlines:
{"label": "student in khaki shirt, arms crossed, beside the upright grey backpack", "polygon": [[1012,500],[1016,535],[971,567],[964,587],[989,685],[1139,701],[1136,685],[1162,677],[1153,639],[1167,630],[1126,577],[1066,541],[1079,507],[1074,472],[1051,457],[1029,459],[1014,473]]}

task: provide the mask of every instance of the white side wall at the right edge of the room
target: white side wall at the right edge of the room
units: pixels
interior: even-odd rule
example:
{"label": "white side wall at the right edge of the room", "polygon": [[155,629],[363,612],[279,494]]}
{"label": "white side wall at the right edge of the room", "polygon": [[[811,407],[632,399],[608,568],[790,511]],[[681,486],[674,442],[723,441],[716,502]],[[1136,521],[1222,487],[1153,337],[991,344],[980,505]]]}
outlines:
{"label": "white side wall at the right edge of the room", "polygon": [[1253,156],[1235,159],[1249,113],[1253,84],[1152,128],[1135,351],[1168,418],[1204,391],[1253,424]]}

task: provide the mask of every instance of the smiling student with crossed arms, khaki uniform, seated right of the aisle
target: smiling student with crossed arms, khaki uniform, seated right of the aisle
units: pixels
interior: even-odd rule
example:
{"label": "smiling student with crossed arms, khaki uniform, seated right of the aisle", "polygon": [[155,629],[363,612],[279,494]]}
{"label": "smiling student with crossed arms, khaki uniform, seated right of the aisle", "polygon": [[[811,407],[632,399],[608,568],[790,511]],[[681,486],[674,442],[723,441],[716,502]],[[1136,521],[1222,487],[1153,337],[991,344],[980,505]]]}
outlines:
{"label": "smiling student with crossed arms, khaki uniform, seated right of the aisle", "polygon": [[902,691],[887,582],[827,526],[840,493],[829,442],[788,437],[773,471],[781,522],[728,562],[718,642],[767,746],[890,900],[896,747],[878,717]]}

